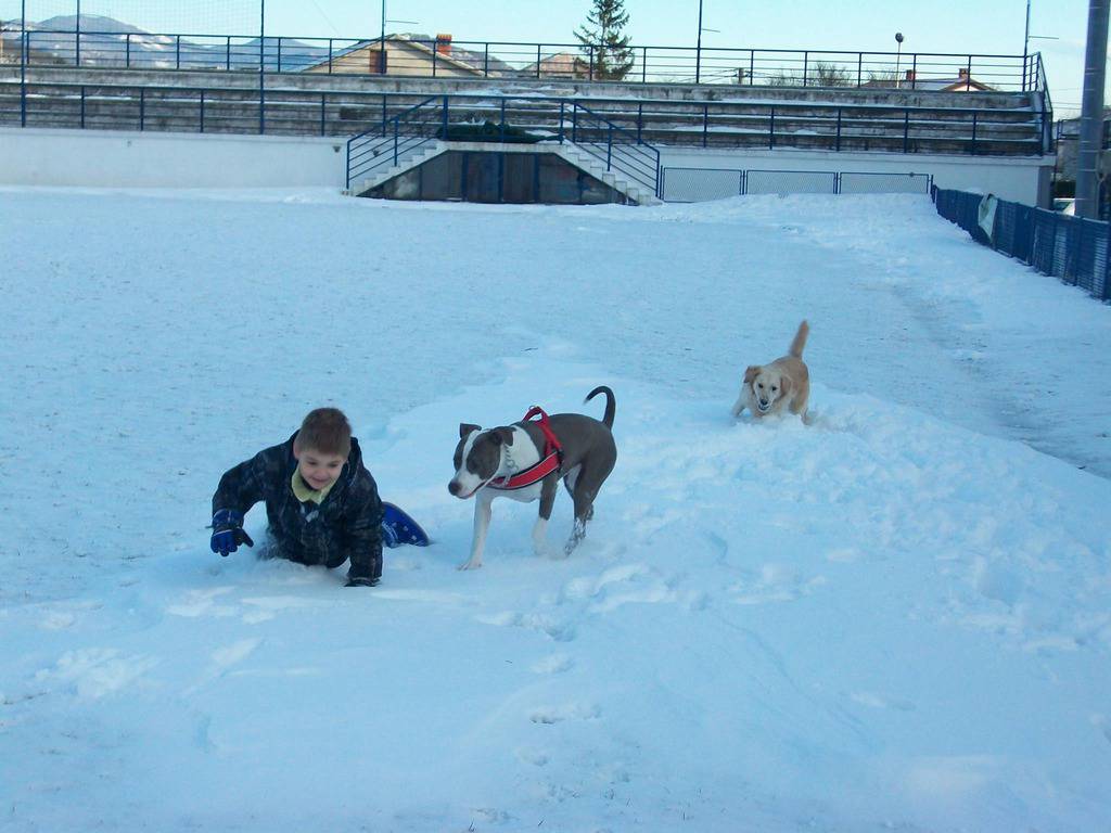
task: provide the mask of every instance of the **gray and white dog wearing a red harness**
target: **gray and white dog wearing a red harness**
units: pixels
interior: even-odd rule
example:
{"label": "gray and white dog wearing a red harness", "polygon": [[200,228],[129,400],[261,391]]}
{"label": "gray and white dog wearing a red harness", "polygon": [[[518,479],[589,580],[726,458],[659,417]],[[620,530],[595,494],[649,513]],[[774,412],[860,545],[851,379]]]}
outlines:
{"label": "gray and white dog wearing a red harness", "polygon": [[[537,554],[543,554],[544,533],[560,480],[574,501],[574,528],[564,553],[570,554],[579,544],[587,532],[587,521],[594,514],[594,498],[618,459],[610,431],[617,410],[613,391],[601,385],[583,402],[599,393],[605,394],[605,414],[601,421],[581,413],[548,416],[540,409],[533,409],[524,420],[512,425],[486,431],[469,423],[459,425],[456,475],[448,483],[448,491],[461,500],[476,499],[471,556],[460,564],[460,570],[482,566],[490,504],[494,498],[512,498],[522,503],[540,500],[532,543]],[[541,416],[540,422],[529,419],[534,413]]]}

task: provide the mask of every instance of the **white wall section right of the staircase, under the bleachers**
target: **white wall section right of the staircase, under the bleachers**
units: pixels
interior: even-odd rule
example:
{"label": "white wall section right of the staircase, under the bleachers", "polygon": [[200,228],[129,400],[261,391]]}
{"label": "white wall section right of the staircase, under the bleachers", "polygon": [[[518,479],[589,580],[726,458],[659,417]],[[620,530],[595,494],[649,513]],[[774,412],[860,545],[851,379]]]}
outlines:
{"label": "white wall section right of the staircase, under the bleachers", "polygon": [[938,188],[993,193],[1000,199],[1039,204],[1053,170],[1053,157],[932,155],[837,151],[698,150],[661,148],[661,168],[724,168],[782,171],[868,171],[930,173]]}

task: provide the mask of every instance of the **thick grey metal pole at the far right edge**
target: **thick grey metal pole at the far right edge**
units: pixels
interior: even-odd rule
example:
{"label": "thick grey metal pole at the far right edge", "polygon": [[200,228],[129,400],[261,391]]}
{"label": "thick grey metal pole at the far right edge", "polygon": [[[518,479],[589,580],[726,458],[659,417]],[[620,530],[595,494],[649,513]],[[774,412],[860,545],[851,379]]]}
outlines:
{"label": "thick grey metal pole at the far right edge", "polygon": [[1088,1],[1088,47],[1084,49],[1084,91],[1080,109],[1080,151],[1077,162],[1077,217],[1099,217],[1099,162],[1103,139],[1103,80],[1107,74],[1108,9],[1111,0]]}

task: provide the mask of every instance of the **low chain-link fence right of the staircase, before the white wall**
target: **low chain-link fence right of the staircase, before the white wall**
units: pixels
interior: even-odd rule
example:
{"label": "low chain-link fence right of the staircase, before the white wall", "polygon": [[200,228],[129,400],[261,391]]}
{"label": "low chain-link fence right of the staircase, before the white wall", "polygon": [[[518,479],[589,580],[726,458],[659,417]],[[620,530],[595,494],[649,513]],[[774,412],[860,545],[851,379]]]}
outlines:
{"label": "low chain-link fence right of the staircase, before the white wall", "polygon": [[667,202],[705,202],[764,193],[925,194],[932,184],[933,177],[928,173],[664,168],[660,191]]}

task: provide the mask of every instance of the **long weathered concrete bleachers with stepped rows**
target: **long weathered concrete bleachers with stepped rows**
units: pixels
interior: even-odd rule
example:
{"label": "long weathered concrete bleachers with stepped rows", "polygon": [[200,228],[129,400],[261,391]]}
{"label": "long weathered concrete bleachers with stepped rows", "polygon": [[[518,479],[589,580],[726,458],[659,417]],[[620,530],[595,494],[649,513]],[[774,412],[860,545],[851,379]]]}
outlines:
{"label": "long weathered concrete bleachers with stepped rows", "polygon": [[[349,137],[431,96],[452,121],[570,138],[578,102],[644,142],[880,153],[1031,157],[1049,151],[1037,92],[737,87],[0,67],[0,127]],[[562,106],[562,107],[561,107]],[[24,116],[26,113],[26,116]]]}

